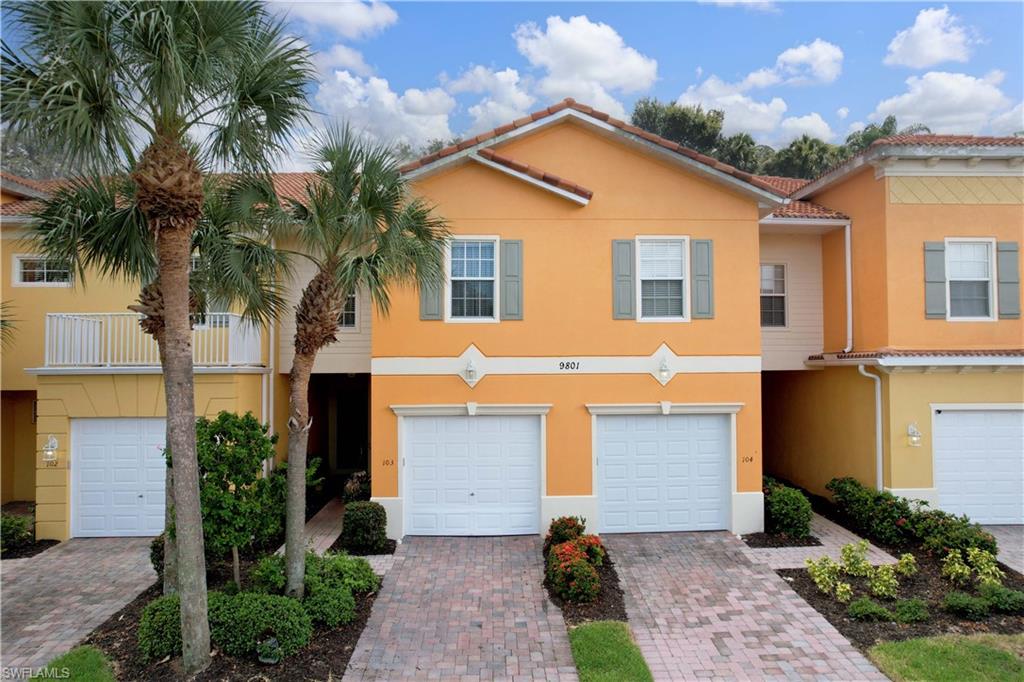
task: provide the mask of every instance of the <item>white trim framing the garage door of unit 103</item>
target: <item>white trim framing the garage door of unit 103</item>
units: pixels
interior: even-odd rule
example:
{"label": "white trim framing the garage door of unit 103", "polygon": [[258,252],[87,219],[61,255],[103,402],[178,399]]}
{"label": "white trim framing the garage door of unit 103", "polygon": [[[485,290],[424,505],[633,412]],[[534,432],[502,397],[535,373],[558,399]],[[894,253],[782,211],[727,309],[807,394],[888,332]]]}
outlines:
{"label": "white trim framing the garage door of unit 103", "polygon": [[[400,539],[406,535],[406,418],[409,417],[516,417],[534,416],[540,420],[540,499],[544,499],[548,486],[548,434],[547,415],[550,403],[479,403],[459,402],[443,404],[393,404],[391,411],[398,417],[398,457],[395,466],[398,475],[398,497],[373,498],[374,502],[383,505],[387,511],[387,536]],[[540,516],[540,509],[538,510]],[[539,521],[540,522],[540,521]]]}

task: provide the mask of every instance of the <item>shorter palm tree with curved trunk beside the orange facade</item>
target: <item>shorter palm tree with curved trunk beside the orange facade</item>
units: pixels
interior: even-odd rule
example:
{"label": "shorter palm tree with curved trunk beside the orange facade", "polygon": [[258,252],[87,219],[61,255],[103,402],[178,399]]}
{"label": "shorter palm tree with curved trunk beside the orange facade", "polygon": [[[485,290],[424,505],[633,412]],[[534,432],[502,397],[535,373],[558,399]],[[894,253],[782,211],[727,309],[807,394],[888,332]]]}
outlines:
{"label": "shorter palm tree with curved trunk beside the orange facade", "polygon": [[314,178],[302,201],[288,202],[268,219],[272,232],[297,242],[316,270],[296,306],[290,374],[285,589],[296,597],[304,589],[309,375],[316,353],[337,340],[349,294],[368,292],[387,314],[392,286],[440,282],[447,238],[444,220],[412,196],[390,147],[345,127],[328,129],[313,148]]}

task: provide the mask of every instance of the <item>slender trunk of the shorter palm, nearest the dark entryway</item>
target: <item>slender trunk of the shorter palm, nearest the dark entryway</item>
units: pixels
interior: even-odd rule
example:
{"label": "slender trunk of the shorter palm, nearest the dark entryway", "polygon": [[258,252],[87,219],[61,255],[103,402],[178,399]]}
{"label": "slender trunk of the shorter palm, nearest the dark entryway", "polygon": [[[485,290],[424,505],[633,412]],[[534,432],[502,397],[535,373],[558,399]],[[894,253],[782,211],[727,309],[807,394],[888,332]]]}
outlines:
{"label": "slender trunk of the shorter palm, nearest the dark entryway", "polygon": [[309,442],[309,375],[315,354],[295,353],[290,375],[288,503],[285,518],[285,594],[301,598],[306,571],[306,446]]}

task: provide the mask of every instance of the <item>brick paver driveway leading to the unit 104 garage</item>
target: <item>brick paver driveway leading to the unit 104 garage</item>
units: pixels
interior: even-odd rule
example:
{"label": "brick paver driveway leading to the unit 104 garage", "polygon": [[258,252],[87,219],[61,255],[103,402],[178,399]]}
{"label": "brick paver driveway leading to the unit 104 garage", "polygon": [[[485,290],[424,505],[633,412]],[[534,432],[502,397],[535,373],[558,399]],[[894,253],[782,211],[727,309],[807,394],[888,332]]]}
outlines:
{"label": "brick paver driveway leading to the unit 104 garage", "polygon": [[885,680],[726,532],[602,536],[657,680]]}

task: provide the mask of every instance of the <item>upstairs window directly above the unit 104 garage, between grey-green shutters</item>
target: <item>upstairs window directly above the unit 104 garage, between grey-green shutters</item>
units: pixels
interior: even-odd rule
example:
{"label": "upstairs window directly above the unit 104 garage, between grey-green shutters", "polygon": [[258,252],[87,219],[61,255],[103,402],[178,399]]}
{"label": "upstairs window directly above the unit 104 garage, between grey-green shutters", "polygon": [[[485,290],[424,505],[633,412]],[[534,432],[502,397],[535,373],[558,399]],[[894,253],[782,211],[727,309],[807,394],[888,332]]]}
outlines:
{"label": "upstairs window directly above the unit 104 garage, between grey-green shutters", "polygon": [[637,248],[640,273],[640,317],[685,319],[686,240],[641,239]]}

